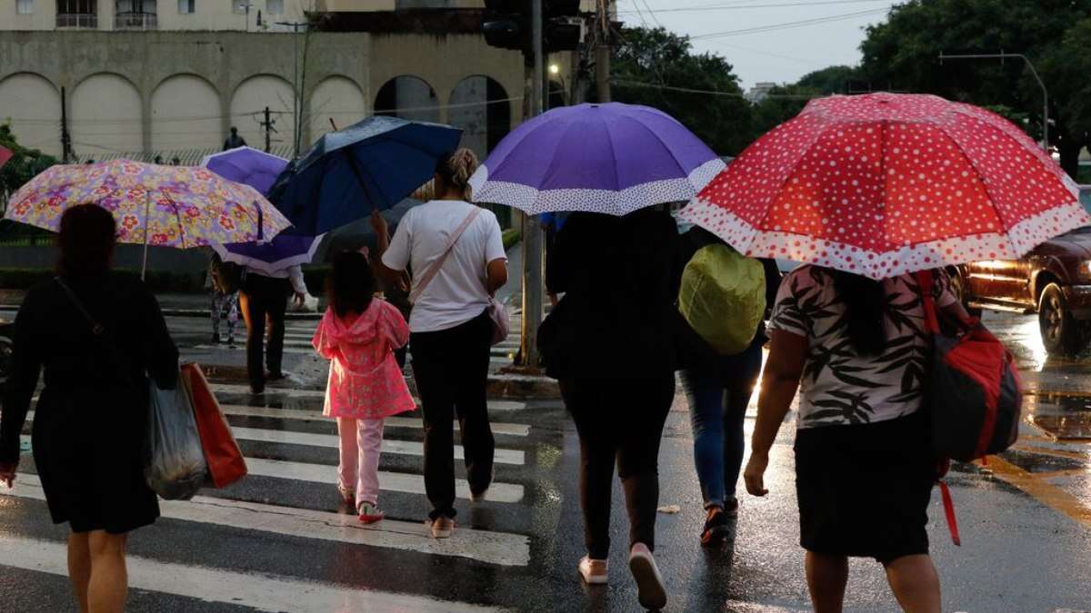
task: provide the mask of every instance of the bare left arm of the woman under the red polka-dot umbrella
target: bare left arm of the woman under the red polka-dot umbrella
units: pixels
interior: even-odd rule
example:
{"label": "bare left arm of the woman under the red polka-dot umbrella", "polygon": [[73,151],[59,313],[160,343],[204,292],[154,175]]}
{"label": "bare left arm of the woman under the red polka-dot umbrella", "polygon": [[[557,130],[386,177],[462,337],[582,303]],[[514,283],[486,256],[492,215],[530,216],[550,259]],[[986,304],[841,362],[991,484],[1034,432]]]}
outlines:
{"label": "bare left arm of the woman under the red polka-dot umbrella", "polygon": [[800,387],[806,352],[806,338],[784,330],[772,330],[769,359],[762,374],[762,394],[757,401],[757,423],[751,442],[751,458],[743,473],[746,491],[755,496],[769,493],[765,489],[769,449],[777,440],[780,425]]}

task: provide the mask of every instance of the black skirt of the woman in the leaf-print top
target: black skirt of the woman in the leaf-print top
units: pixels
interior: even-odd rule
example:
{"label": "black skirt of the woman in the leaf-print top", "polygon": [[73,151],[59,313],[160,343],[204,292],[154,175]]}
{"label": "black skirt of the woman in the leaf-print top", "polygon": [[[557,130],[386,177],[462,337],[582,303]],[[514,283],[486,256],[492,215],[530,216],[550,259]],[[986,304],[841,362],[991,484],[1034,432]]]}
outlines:
{"label": "black skirt of the woman in the leaf-print top", "polygon": [[889,563],[928,553],[935,460],[925,416],[795,435],[800,544],[814,553]]}

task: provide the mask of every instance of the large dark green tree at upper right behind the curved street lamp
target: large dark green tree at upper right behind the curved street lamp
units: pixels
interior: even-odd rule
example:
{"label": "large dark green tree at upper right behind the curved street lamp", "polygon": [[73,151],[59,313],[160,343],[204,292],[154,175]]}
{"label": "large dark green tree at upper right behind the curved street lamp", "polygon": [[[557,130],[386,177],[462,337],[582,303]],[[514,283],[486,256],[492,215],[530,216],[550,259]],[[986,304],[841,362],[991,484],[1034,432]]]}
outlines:
{"label": "large dark green tree at upper right behind the curved street lamp", "polygon": [[1042,93],[1021,60],[939,60],[940,53],[1023,53],[1051,92],[1050,141],[1075,177],[1088,122],[1083,104],[1072,98],[1081,87],[1086,98],[1087,85],[1079,82],[1087,81],[1091,62],[1087,31],[1080,39],[1077,28],[1088,17],[1088,0],[909,0],[867,28],[862,76],[877,87],[1005,106],[1027,113],[1040,130]]}

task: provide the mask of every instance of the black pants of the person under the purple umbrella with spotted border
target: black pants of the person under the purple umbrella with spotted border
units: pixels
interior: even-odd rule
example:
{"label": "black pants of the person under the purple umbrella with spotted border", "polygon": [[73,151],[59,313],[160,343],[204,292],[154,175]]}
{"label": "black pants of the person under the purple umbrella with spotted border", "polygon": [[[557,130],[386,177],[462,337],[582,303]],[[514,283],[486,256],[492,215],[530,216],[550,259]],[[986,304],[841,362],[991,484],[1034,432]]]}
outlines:
{"label": "black pants of the person under the purple umbrella with spotted border", "polygon": [[561,395],[579,433],[584,542],[594,560],[610,553],[610,503],[618,464],[628,510],[630,546],[656,546],[659,441],[674,400],[674,373],[658,377],[562,378]]}

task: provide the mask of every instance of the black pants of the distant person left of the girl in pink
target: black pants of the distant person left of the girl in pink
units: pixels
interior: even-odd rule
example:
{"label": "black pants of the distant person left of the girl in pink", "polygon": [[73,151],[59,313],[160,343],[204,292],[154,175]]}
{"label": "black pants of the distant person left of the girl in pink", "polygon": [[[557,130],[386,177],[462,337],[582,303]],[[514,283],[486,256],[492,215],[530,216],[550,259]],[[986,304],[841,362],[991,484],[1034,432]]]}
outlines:
{"label": "black pants of the distant person left of the girl in pink", "polygon": [[[247,321],[247,375],[250,386],[265,387],[262,354],[271,373],[279,373],[284,362],[284,315],[288,310],[291,281],[250,273],[243,283],[239,302]],[[269,346],[265,351],[265,328]]]}

